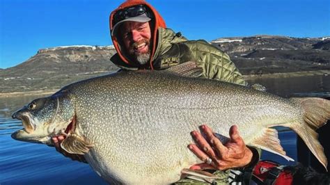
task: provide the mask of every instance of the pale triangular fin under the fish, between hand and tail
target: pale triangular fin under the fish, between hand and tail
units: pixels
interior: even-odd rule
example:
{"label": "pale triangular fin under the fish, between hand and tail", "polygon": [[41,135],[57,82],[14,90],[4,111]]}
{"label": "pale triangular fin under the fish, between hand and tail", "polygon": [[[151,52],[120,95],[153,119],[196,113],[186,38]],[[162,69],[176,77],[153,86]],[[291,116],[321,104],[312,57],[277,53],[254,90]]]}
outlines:
{"label": "pale triangular fin under the fish, between hand and tail", "polygon": [[251,145],[260,147],[262,150],[283,156],[288,161],[294,161],[292,158],[290,158],[290,156],[287,156],[283,150],[281,141],[278,139],[278,132],[276,129],[263,129],[260,136],[256,136]]}

